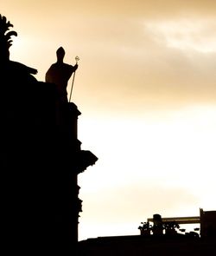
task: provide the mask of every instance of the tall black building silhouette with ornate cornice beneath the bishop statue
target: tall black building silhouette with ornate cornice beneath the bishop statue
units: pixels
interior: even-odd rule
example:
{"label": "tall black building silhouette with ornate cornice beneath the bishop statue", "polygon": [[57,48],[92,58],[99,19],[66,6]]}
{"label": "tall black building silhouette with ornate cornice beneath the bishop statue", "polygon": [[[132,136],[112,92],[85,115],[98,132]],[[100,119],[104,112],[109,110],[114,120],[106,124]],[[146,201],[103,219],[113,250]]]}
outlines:
{"label": "tall black building silhouette with ornate cornice beneath the bishop statue", "polygon": [[2,243],[8,254],[77,255],[77,177],[97,156],[81,149],[81,114],[54,83],[10,61],[12,25],[0,16]]}

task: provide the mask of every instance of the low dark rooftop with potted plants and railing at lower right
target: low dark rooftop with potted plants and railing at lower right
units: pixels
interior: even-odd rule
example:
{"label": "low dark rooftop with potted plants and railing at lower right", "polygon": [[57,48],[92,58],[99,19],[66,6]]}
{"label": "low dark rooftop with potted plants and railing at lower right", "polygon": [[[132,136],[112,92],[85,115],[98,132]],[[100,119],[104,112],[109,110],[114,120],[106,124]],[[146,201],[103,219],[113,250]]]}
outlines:
{"label": "low dark rooftop with potted plants and railing at lower right", "polygon": [[[152,223],[152,225],[151,225]],[[178,233],[180,224],[200,223],[198,233]],[[201,256],[216,254],[216,211],[203,211],[200,216],[153,218],[142,222],[141,235],[98,237],[79,242],[79,255],[124,256]]]}

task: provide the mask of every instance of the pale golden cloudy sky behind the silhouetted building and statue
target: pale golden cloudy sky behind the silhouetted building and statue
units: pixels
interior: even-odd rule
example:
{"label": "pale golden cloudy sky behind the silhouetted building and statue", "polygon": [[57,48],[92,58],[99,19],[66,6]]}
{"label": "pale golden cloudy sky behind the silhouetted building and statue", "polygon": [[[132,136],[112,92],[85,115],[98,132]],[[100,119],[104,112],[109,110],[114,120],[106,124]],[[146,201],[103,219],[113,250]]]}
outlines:
{"label": "pale golden cloudy sky behind the silhouetted building and statue", "polygon": [[18,33],[10,59],[39,81],[60,46],[80,58],[72,101],[98,161],[79,174],[79,240],[216,210],[216,1],[1,0],[0,13]]}

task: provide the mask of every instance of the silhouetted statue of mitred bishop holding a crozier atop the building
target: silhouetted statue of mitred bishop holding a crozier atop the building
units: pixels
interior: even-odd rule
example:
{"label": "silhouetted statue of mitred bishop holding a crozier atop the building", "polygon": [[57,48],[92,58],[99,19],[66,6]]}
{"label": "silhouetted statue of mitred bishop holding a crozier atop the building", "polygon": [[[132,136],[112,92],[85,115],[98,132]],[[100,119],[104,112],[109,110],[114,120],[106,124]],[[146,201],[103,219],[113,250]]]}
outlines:
{"label": "silhouetted statue of mitred bishop holding a crozier atop the building", "polygon": [[45,81],[54,83],[60,95],[60,101],[65,103],[67,100],[67,82],[73,72],[78,68],[78,63],[74,66],[63,62],[65,50],[60,47],[56,51],[57,62],[52,64],[45,75]]}

